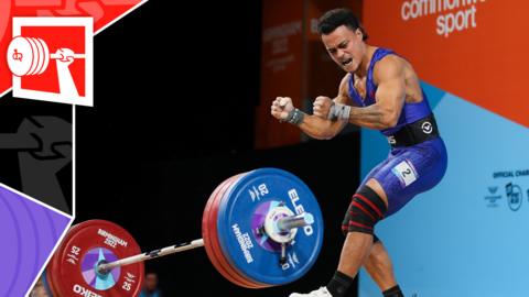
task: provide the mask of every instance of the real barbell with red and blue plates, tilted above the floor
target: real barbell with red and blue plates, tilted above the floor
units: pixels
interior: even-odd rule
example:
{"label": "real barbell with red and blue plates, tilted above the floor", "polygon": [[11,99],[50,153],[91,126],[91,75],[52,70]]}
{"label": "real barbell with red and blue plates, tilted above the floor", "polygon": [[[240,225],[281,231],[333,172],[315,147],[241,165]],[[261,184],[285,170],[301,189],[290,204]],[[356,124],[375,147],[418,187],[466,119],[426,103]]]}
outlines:
{"label": "real barbell with red and blue plates, tilted above the floor", "polygon": [[203,212],[202,239],[141,253],[116,223],[72,227],[44,273],[51,296],[137,296],[147,260],[204,246],[214,267],[246,288],[292,283],[315,263],[323,242],[316,198],[278,168],[235,175],[216,187]]}

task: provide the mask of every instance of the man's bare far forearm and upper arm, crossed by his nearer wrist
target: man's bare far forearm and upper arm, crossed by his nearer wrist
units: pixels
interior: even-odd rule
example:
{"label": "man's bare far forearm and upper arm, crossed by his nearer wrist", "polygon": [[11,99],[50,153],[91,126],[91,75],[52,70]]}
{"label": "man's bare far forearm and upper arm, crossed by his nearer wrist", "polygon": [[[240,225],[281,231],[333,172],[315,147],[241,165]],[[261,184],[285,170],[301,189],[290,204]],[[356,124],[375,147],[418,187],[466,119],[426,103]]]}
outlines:
{"label": "man's bare far forearm and upper arm, crossed by his nearer wrist", "polygon": [[[338,96],[333,99],[335,102],[342,105],[350,102],[348,96],[348,79],[349,74],[345,75],[342,79],[342,82],[339,84]],[[317,140],[328,140],[338,134],[346,124],[346,121],[331,121],[320,117],[306,114],[303,119],[303,122],[299,127],[311,138]]]}

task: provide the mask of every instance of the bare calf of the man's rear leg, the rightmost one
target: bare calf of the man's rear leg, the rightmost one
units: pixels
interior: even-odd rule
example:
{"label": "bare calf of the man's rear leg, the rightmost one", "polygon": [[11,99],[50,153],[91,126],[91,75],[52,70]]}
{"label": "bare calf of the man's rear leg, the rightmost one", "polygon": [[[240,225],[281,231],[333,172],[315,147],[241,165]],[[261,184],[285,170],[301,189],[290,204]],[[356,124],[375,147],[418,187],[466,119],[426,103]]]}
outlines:
{"label": "bare calf of the man's rear leg, the rightmost one", "polygon": [[389,258],[388,251],[381,242],[373,244],[371,253],[366,258],[364,267],[377,283],[381,292],[392,288],[397,285],[393,274],[393,265]]}

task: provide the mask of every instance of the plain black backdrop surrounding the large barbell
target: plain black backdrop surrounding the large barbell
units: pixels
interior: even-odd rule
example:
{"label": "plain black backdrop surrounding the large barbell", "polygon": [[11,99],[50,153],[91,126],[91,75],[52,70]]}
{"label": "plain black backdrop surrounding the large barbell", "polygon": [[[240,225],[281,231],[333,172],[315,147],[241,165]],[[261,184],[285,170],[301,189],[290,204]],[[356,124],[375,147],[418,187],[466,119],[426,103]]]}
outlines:
{"label": "plain black backdrop surrounding the large barbell", "polygon": [[309,185],[324,213],[323,249],[302,279],[240,288],[214,270],[204,249],[147,268],[159,273],[165,296],[288,296],[325,285],[358,184],[358,135],[253,150],[261,2],[173,8],[148,1],[95,37],[95,107],[77,107],[76,222],[115,221],[143,251],[191,241],[202,237],[202,212],[218,184],[279,167]]}

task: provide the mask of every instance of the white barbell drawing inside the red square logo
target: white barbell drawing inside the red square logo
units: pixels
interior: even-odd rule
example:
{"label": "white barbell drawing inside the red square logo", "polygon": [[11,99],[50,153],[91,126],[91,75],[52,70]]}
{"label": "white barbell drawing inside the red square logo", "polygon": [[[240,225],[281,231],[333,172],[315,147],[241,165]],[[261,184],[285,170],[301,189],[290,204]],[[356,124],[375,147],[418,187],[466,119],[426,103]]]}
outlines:
{"label": "white barbell drawing inside the red square logo", "polygon": [[68,58],[85,58],[68,48],[58,48],[51,54],[47,44],[37,37],[14,37],[8,46],[8,66],[15,76],[41,75],[50,65],[50,59],[67,62]]}

